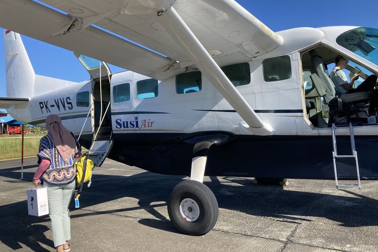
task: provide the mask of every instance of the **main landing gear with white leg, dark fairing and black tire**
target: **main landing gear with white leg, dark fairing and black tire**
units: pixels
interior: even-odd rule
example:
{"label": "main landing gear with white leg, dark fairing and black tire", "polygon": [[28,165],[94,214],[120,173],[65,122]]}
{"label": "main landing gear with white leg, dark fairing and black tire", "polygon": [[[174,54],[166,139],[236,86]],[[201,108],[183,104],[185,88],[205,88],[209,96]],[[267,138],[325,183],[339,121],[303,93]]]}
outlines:
{"label": "main landing gear with white leg, dark fairing and black tire", "polygon": [[186,136],[178,141],[196,143],[193,148],[191,179],[178,183],[170,195],[168,215],[182,233],[204,235],[218,220],[218,202],[213,192],[203,184],[209,148],[229,142],[229,134]]}

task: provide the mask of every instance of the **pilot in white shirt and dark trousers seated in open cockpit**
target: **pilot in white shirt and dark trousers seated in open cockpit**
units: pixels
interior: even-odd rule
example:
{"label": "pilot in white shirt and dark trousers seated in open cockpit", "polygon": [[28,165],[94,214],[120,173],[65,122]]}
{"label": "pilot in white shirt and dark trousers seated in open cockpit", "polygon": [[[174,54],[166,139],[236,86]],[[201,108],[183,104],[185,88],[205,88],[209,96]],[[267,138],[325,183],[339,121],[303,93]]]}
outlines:
{"label": "pilot in white shirt and dark trousers seated in open cockpit", "polygon": [[358,79],[359,74],[354,74],[348,82],[346,74],[343,69],[348,66],[349,60],[342,56],[337,55],[335,58],[335,68],[332,70],[330,77],[335,84],[337,94],[351,94],[358,92],[369,92],[370,93],[370,105],[369,105],[369,115],[375,114],[375,108],[378,108],[378,90],[374,89],[377,77],[376,75],[370,75],[366,78],[357,88],[353,88],[354,82]]}

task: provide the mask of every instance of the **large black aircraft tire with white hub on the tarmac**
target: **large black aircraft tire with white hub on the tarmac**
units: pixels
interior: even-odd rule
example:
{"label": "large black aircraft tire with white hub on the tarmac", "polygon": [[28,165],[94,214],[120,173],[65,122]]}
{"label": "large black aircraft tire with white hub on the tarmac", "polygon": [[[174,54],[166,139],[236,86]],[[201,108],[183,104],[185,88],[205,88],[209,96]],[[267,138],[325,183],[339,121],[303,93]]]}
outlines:
{"label": "large black aircraft tire with white hub on the tarmac", "polygon": [[185,180],[173,188],[168,203],[168,215],[180,232],[204,235],[217,223],[218,202],[205,184]]}

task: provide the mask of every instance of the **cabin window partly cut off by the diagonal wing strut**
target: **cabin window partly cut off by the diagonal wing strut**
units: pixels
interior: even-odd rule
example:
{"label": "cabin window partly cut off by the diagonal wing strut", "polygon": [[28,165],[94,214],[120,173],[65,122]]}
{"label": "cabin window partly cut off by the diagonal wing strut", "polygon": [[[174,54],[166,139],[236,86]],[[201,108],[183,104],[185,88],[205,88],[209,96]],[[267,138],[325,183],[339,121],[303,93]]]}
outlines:
{"label": "cabin window partly cut off by the diagonal wing strut", "polygon": [[250,83],[248,63],[229,65],[221,69],[235,87],[248,85]]}

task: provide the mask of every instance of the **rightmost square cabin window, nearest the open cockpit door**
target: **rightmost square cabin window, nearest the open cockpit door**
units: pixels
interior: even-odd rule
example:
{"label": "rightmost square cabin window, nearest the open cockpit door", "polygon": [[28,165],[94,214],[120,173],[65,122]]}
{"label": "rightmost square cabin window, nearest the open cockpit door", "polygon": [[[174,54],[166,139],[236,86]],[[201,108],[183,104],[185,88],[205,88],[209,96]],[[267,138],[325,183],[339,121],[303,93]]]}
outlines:
{"label": "rightmost square cabin window, nearest the open cockpit door", "polygon": [[288,55],[263,60],[264,81],[283,81],[291,78],[291,63]]}

